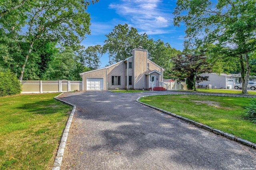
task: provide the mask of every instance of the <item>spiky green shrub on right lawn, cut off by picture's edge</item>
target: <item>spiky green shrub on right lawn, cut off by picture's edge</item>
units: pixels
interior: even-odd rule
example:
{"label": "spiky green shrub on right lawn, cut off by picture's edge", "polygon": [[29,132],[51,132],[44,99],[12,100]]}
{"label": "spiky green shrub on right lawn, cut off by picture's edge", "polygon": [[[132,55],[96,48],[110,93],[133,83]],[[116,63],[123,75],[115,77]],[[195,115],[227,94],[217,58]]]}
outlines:
{"label": "spiky green shrub on right lawn, cut off by picture's edge", "polygon": [[243,108],[243,117],[252,121],[253,123],[256,123],[256,101],[254,99],[251,99],[250,103],[248,103],[248,105],[246,106],[243,106]]}

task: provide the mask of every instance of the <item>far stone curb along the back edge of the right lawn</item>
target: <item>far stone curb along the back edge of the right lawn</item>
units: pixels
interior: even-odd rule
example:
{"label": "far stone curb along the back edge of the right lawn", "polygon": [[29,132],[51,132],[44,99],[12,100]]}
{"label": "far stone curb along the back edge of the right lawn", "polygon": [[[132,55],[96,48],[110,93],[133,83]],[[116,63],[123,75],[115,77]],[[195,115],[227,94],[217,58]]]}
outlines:
{"label": "far stone curb along the back edge of the right lawn", "polygon": [[[170,91],[170,90],[168,90]],[[235,94],[235,93],[208,93],[203,91],[178,91],[178,90],[171,90],[179,93],[194,93],[192,95],[223,95],[223,96],[229,96],[229,97],[252,97],[256,98],[256,95],[250,95],[250,94]],[[196,93],[202,93],[202,94],[196,94]],[[207,94],[206,94],[207,93]],[[188,94],[191,95],[191,94]]]}

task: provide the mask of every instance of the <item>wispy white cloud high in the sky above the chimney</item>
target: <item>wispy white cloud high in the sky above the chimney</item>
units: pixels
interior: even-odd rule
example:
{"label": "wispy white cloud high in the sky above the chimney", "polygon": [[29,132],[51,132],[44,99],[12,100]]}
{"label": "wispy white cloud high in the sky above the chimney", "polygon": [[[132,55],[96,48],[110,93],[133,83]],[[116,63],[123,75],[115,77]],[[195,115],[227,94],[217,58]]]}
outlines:
{"label": "wispy white cloud high in the sky above the chimney", "polygon": [[112,3],[109,8],[128,20],[129,26],[133,26],[148,35],[166,34],[169,32],[172,19],[171,12],[167,8],[161,8],[161,0],[122,0],[120,3]]}

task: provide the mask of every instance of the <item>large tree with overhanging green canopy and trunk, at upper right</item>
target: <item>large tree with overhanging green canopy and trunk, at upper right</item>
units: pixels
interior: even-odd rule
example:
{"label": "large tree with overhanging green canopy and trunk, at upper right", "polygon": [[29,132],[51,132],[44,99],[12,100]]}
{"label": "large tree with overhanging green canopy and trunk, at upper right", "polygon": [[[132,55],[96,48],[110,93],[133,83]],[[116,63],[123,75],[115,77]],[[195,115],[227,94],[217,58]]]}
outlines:
{"label": "large tree with overhanging green canopy and trunk, at upper right", "polygon": [[[174,25],[186,25],[187,47],[207,48],[226,57],[238,57],[242,93],[247,93],[250,57],[256,47],[255,0],[178,0]],[[193,45],[192,45],[193,44]]]}

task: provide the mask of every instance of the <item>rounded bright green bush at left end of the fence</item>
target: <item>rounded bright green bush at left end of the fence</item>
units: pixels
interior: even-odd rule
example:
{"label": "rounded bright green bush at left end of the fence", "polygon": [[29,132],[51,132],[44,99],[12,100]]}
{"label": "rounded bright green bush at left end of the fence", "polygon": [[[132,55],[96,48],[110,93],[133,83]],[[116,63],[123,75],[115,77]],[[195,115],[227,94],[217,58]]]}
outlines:
{"label": "rounded bright green bush at left end of the fence", "polygon": [[0,96],[15,95],[21,92],[20,81],[14,73],[0,71]]}

